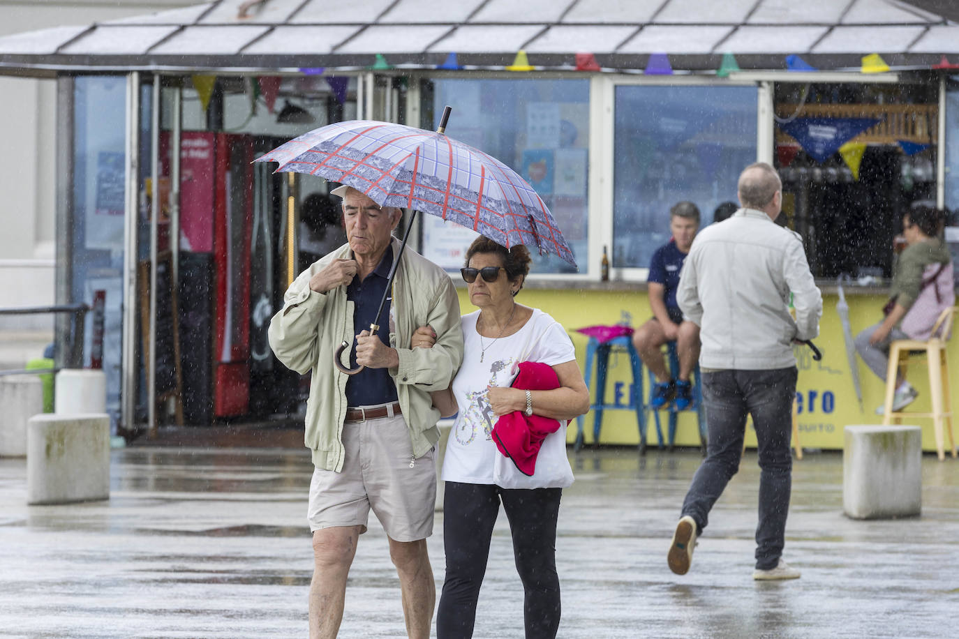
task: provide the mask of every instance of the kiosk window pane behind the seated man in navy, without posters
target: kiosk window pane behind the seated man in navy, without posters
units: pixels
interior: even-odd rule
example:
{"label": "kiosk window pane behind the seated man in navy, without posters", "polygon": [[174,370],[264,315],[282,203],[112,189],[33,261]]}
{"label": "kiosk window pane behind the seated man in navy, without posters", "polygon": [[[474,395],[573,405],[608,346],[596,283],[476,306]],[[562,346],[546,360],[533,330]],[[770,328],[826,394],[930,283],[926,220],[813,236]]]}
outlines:
{"label": "kiosk window pane behind the seated man in navy, without posters", "polygon": [[756,161],[752,86],[618,86],[613,171],[614,266],[649,266],[669,240],[669,209],[689,200],[702,223],[737,201]]}

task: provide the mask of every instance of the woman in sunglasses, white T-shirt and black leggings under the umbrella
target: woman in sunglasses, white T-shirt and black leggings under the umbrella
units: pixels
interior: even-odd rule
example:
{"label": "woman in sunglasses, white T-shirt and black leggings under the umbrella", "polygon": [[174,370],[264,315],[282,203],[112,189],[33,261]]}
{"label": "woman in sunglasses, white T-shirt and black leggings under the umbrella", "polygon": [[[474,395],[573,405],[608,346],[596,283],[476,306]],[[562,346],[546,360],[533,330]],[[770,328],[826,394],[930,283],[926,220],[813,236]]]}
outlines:
{"label": "woman in sunglasses, white T-shirt and black leggings under the umbrella", "polygon": [[[555,637],[559,628],[556,519],[560,495],[573,483],[566,424],[589,410],[589,392],[563,327],[542,310],[516,303],[528,272],[529,252],[522,245],[507,250],[480,237],[466,252],[462,276],[479,310],[462,317],[465,354],[453,384],[433,393],[433,403],[444,416],[456,414],[443,461],[446,581],[436,617],[439,639],[473,635],[479,586],[501,503],[526,593],[526,637]],[[414,333],[413,348],[432,344],[429,327]],[[558,387],[512,387],[521,362],[551,367],[555,375],[549,369],[547,374]],[[497,422],[516,411],[558,421],[558,429],[542,441],[534,469],[498,449],[503,439],[497,437]]]}

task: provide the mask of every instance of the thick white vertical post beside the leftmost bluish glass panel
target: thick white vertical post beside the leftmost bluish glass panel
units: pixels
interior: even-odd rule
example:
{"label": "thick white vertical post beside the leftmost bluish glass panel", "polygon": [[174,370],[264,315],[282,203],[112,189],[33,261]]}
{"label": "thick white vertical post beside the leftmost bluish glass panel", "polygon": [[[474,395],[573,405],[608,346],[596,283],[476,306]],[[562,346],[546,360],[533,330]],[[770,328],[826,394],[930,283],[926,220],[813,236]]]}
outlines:
{"label": "thick white vertical post beside the leftmost bluish glass panel", "polygon": [[120,421],[131,430],[136,401],[136,225],[139,217],[140,74],[127,76],[126,206],[124,207],[123,336]]}

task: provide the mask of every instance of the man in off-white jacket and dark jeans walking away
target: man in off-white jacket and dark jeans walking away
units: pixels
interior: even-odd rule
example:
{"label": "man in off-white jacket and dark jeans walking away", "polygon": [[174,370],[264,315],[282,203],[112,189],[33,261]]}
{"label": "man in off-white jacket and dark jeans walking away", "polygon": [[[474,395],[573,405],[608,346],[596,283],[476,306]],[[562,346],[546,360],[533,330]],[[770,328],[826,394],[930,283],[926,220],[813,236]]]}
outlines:
{"label": "man in off-white jacket and dark jeans walking away", "polygon": [[753,579],[796,579],[799,571],[782,558],[792,488],[789,437],[797,374],[792,345],[819,333],[823,298],[799,235],[773,223],[783,204],[776,170],[764,163],[747,167],[738,191],[742,208],[700,231],[680,276],[679,306],[700,327],[710,432],[706,460],[692,478],[667,561],[677,575],[689,571],[696,537],[739,468],[749,413],[761,468]]}

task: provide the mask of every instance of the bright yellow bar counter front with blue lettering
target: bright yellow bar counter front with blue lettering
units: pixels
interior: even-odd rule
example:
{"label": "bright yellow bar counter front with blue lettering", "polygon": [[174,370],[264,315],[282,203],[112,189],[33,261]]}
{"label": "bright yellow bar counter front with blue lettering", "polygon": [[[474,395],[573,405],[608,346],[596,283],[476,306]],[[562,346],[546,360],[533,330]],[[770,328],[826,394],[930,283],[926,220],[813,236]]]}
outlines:
{"label": "bright yellow bar counter front with blue lettering", "polygon": [[[638,327],[649,317],[645,285],[626,285],[624,283],[610,283],[600,285],[589,283],[583,287],[570,287],[569,284],[556,287],[547,287],[546,283],[530,283],[526,285],[517,297],[517,301],[526,306],[541,308],[550,313],[562,324],[576,347],[576,358],[580,369],[584,369],[587,338],[575,329],[596,324],[618,324],[624,319],[631,321],[631,326]],[[819,362],[812,360],[812,352],[807,347],[796,347],[797,364],[799,367],[799,382],[796,388],[796,398],[799,411],[799,437],[804,448],[841,449],[843,447],[843,427],[848,424],[881,423],[882,418],[874,412],[882,403],[885,387],[884,382],[878,379],[866,368],[856,356],[855,366],[859,374],[862,389],[862,405],[856,399],[853,376],[846,356],[846,347],[843,341],[842,325],[836,312],[838,296],[834,287],[823,287],[823,318],[820,324],[820,335],[814,341],[823,353]],[[470,304],[465,288],[458,288],[460,307],[463,313],[471,312],[476,308]],[[881,308],[886,301],[884,289],[873,288],[860,290],[846,289],[846,299],[850,306],[850,321],[853,335],[868,326],[877,323],[882,317]],[[959,345],[954,340],[949,345],[948,359],[952,365],[950,378],[950,397],[955,397],[959,372],[955,368],[959,365]],[[643,369],[645,375],[645,370]],[[594,376],[595,376],[594,372]],[[920,412],[931,410],[928,393],[928,373],[924,357],[914,357],[909,374],[909,381],[919,390],[920,396],[909,408]],[[629,371],[629,362],[624,355],[610,356],[609,377],[606,382],[606,401],[613,403],[620,399],[625,405],[629,397],[629,384],[632,376]],[[647,379],[643,379],[643,388],[646,388]],[[593,384],[591,384],[592,390]],[[595,400],[595,396],[591,398]],[[649,445],[656,445],[656,429],[649,413],[647,438]],[[666,436],[666,413],[661,413]],[[923,448],[934,451],[935,441],[932,434],[932,421],[923,418],[916,420],[903,419],[903,423],[912,423],[923,427]],[[593,432],[593,415],[586,416],[584,422],[586,442],[591,443]],[[575,438],[575,423],[570,424],[568,441],[573,443]],[[605,410],[603,412],[602,433],[600,443],[614,445],[639,444],[639,430],[636,414],[629,410]],[[946,436],[948,445],[948,435]],[[696,428],[694,412],[680,414],[676,429],[676,445],[699,445],[699,435]],[[746,434],[746,445],[756,445],[756,435],[750,428]]]}

